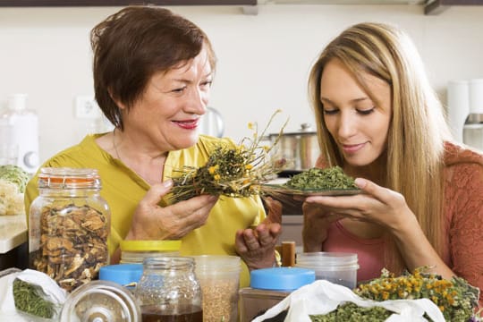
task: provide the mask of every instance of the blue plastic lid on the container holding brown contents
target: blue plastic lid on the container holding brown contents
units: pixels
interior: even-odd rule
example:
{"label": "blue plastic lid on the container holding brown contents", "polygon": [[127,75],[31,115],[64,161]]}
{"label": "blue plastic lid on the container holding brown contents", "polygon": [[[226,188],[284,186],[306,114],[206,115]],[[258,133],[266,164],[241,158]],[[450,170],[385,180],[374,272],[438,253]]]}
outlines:
{"label": "blue plastic lid on the container holding brown contents", "polygon": [[250,272],[250,287],[261,290],[293,291],[313,283],[315,271],[301,267],[273,267]]}

